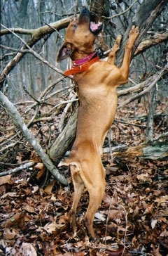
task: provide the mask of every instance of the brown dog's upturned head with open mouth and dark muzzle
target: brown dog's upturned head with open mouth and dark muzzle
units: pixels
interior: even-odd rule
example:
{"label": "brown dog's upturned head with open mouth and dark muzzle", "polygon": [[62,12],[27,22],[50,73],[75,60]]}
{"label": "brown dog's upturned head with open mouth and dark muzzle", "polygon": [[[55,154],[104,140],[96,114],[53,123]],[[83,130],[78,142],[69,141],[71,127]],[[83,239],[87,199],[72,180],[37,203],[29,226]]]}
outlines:
{"label": "brown dog's upturned head with open mouth and dark muzzle", "polygon": [[73,20],[66,30],[65,42],[59,49],[57,61],[71,57],[72,60],[83,58],[91,53],[97,34],[102,31],[102,23],[91,20],[90,11],[83,8],[77,20]]}

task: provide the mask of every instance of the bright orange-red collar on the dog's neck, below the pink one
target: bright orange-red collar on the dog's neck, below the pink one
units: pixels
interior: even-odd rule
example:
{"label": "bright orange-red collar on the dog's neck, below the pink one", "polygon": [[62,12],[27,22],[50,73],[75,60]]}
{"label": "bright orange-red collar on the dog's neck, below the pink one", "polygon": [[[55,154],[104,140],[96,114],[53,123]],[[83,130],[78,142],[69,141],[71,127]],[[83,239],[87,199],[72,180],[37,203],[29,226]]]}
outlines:
{"label": "bright orange-red collar on the dog's neck, below the pink one", "polygon": [[64,71],[64,75],[68,77],[69,75],[87,71],[93,63],[99,61],[99,56],[94,57],[95,54],[96,53],[93,52],[85,58],[81,58],[80,60],[73,60],[72,68],[70,70]]}

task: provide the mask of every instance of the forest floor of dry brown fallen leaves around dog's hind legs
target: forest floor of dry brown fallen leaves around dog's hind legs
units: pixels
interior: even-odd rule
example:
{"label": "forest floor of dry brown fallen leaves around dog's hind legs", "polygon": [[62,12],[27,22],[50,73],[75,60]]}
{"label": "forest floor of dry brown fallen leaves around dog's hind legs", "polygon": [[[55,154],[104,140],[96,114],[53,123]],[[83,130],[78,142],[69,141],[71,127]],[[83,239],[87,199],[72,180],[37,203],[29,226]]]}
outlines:
{"label": "forest floor of dry brown fallen leaves around dog's hind legs", "polygon": [[[118,110],[112,126],[116,145],[135,146],[144,142],[145,105],[130,103],[124,110]],[[156,110],[155,136],[167,132],[167,109],[165,98]],[[1,114],[0,129],[4,128],[6,112]],[[45,136],[43,147],[44,141]],[[15,164],[29,161],[32,156],[29,152],[31,148],[24,145],[22,151],[15,153]],[[13,155],[10,149],[8,165],[0,163],[1,171],[12,168]],[[110,153],[104,154],[102,160],[106,168],[106,192],[94,219],[96,241],[90,241],[83,227],[89,200],[87,191],[78,205],[76,236],[67,229],[73,193],[68,169],[61,172],[69,187],[49,175],[46,186],[41,188],[39,173],[36,179],[29,179],[34,172],[32,168],[0,177],[0,255],[168,255],[168,161],[138,156],[113,158]]]}

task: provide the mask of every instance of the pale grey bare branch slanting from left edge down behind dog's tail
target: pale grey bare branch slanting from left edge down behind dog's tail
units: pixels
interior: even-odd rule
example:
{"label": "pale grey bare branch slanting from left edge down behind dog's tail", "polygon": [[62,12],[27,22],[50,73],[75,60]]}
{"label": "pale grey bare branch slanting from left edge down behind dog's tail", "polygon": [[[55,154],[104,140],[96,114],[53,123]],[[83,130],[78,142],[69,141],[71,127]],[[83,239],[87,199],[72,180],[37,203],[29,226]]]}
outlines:
{"label": "pale grey bare branch slanting from left edge down behind dog's tail", "polygon": [[11,103],[8,98],[2,94],[0,91],[0,103],[3,106],[3,108],[6,108],[8,111],[10,117],[13,120],[13,123],[20,129],[22,134],[25,136],[25,139],[29,142],[32,148],[36,151],[36,153],[41,158],[43,164],[45,167],[52,173],[52,175],[62,184],[67,185],[68,182],[62,174],[59,173],[58,169],[53,165],[52,161],[48,157],[47,154],[43,151],[43,148],[41,148],[41,145],[34,139],[34,136],[29,132],[29,129],[27,128],[26,124],[23,122],[22,118],[20,117],[20,114],[18,113],[18,110],[15,108],[13,103]]}

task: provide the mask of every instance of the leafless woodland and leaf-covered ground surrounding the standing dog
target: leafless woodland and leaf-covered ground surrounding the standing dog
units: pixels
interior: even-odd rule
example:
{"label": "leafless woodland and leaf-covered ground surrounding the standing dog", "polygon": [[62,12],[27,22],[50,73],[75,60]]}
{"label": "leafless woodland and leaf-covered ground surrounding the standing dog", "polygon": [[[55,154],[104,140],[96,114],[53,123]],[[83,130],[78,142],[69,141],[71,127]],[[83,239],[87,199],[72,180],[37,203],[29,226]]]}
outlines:
{"label": "leafless woodland and leaf-covered ground surrounding the standing dog", "polygon": [[[118,111],[104,143],[106,195],[95,219],[99,238],[66,229],[73,185],[57,164],[75,137],[78,98],[56,62],[64,31],[85,4],[104,32],[107,51],[139,25],[129,83],[118,89]],[[0,254],[168,254],[167,1],[1,0]],[[52,160],[51,160],[52,159]]]}

